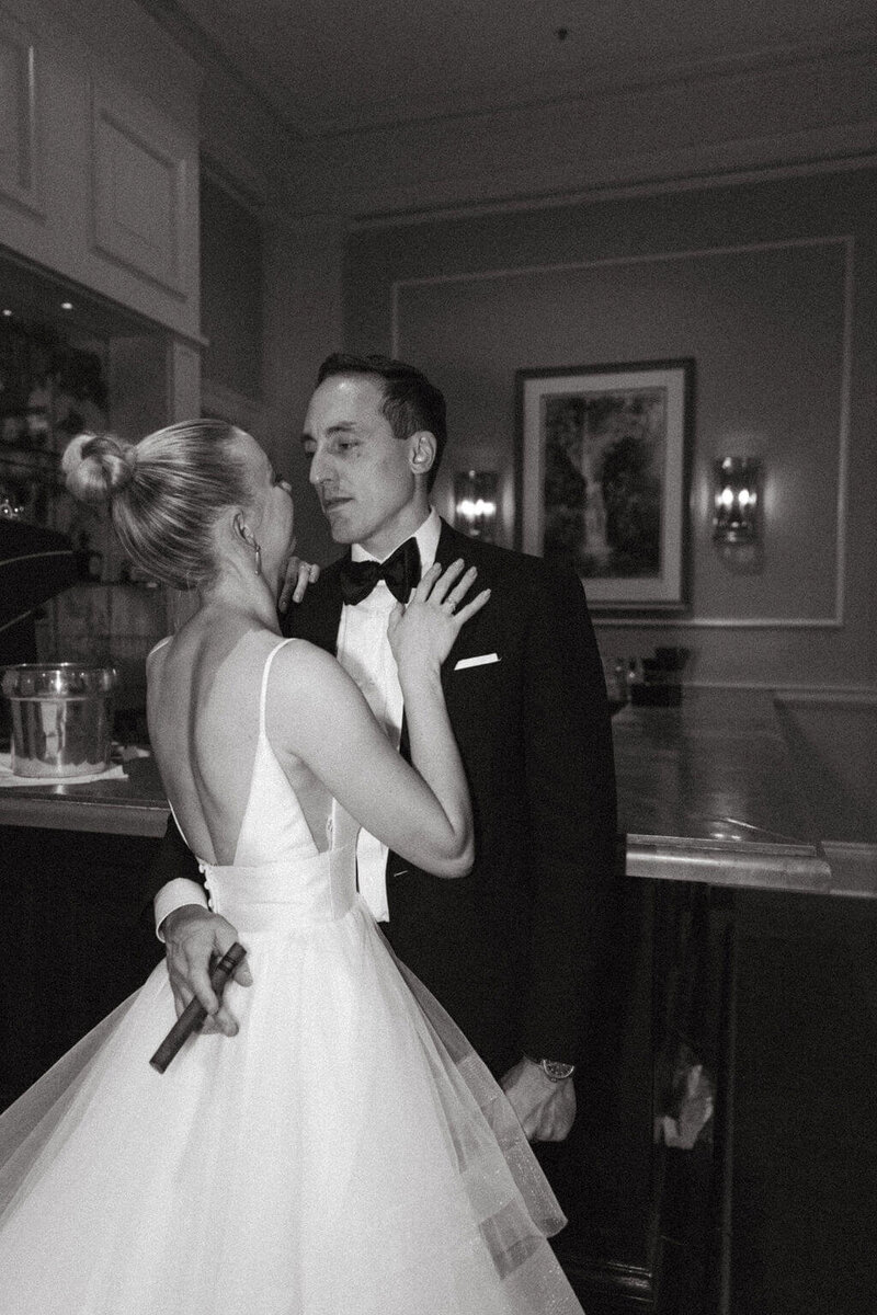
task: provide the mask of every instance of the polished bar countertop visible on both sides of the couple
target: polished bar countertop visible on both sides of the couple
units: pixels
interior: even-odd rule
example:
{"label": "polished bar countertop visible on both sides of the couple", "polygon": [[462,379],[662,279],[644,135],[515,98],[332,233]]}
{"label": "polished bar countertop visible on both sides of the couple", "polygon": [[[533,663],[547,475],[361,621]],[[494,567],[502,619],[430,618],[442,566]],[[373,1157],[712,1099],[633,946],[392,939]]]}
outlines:
{"label": "polished bar countertop visible on both sides of the couple", "polygon": [[[631,877],[845,893],[826,856],[769,690],[688,689],[680,707],[613,718]],[[151,759],[128,780],[0,790],[0,826],[158,838],[168,809]],[[877,896],[877,886],[851,893]]]}

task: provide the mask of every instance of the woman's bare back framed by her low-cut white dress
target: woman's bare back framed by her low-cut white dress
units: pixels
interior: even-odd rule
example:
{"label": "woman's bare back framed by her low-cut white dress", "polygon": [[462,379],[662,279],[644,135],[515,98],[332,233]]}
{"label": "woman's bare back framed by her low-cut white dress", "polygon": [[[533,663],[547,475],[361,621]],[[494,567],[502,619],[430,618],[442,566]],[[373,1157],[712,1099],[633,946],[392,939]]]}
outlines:
{"label": "woman's bare back framed by her low-cut white dress", "polygon": [[[149,726],[180,830],[206,863],[235,861],[250,801],[266,663],[279,636],[237,618],[193,618],[153,651]],[[298,643],[298,642],[297,642]],[[331,796],[301,760],[279,755],[314,847],[327,847]]]}

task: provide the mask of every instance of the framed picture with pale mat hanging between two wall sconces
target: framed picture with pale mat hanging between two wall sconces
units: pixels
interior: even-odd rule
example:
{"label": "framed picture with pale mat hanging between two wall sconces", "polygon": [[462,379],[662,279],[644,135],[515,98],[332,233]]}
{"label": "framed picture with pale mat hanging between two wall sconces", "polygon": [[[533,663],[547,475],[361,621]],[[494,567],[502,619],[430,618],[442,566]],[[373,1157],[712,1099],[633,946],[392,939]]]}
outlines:
{"label": "framed picture with pale mat hanging between two wall sconces", "polygon": [[598,611],[686,606],[694,362],[519,370],[517,546]]}

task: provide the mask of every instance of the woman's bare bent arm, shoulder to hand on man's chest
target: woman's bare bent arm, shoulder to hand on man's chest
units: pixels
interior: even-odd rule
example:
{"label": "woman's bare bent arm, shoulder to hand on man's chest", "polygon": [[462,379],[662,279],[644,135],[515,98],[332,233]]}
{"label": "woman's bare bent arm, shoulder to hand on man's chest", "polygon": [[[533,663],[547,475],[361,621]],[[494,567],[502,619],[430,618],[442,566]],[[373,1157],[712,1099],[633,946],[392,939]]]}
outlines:
{"label": "woman's bare bent arm, shoulder to hand on man's chest", "polygon": [[[442,877],[472,867],[472,809],[442,693],[440,667],[488,590],[463,605],[475,572],[426,573],[388,633],[405,698],[413,767],[391,746],[362,693],[322,650],[289,646],[268,684],[272,743],[295,753],[351,817],[396,853]],[[458,609],[459,610],[455,610]]]}

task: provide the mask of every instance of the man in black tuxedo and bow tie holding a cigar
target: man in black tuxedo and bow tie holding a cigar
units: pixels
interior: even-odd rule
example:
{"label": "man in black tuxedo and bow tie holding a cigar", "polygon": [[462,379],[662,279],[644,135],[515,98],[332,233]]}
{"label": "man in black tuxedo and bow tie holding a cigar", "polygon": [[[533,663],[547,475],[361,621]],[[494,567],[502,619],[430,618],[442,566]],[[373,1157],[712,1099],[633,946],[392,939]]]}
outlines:
{"label": "man in black tuxedo and bow tie holding a cigar", "polygon": [[[350,551],[310,585],[284,629],[338,656],[405,752],[387,640],[394,594],[404,597],[433,562],[456,558],[477,567],[476,590],[492,589],[442,669],[472,792],[475,868],[446,881],[360,834],[359,886],[398,957],[501,1080],[527,1135],[563,1140],[576,1114],[575,1065],[588,1064],[582,1040],[613,872],[602,667],[575,575],[465,538],[430,509],[444,442],[444,398],[412,366],[383,356],[323,362],[302,443],[331,535]],[[195,861],[172,822],[153,876],[154,889],[184,878],[158,893],[156,919],[178,976],[204,982],[210,923],[222,919],[187,880],[197,877]],[[216,935],[225,948],[226,927]],[[220,1022],[230,1030],[230,1019]]]}

